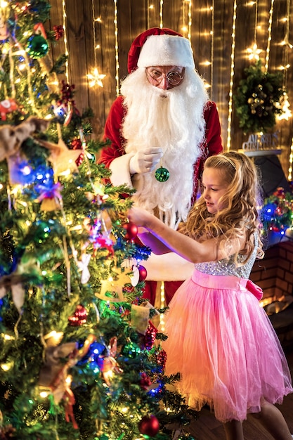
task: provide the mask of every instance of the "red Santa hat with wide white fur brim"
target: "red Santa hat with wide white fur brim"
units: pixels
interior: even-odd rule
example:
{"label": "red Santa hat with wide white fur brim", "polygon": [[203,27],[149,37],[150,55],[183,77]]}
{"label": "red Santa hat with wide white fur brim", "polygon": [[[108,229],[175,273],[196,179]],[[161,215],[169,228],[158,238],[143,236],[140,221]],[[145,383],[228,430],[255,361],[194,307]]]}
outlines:
{"label": "red Santa hat with wide white fur brim", "polygon": [[129,73],[137,67],[178,65],[195,68],[190,41],[167,27],[152,27],[139,34],[128,54]]}

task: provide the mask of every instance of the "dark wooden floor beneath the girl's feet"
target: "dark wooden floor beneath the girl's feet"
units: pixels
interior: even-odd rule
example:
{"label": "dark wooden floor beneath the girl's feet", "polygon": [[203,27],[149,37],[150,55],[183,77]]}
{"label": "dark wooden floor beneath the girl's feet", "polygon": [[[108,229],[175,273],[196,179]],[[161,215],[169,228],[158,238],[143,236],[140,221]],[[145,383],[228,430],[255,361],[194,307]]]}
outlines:
{"label": "dark wooden floor beneath the girl's feet", "polygon": [[[287,361],[293,377],[293,349],[286,351]],[[293,394],[285,397],[282,406],[278,406],[287,421],[290,432],[293,434]],[[257,420],[248,417],[243,422],[245,440],[273,440],[273,437],[259,425]],[[190,434],[198,440],[225,440],[223,425],[214,418],[209,409],[203,408],[200,416],[193,422]]]}

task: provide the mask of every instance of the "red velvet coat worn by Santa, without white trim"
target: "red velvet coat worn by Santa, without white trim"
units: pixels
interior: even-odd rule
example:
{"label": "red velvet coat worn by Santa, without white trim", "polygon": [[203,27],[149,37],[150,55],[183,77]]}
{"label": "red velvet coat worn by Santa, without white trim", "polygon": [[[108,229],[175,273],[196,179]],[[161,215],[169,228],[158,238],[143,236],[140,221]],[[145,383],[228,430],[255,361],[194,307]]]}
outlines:
{"label": "red velvet coat worn by Santa, without white trim", "polygon": [[[121,134],[122,121],[126,113],[126,108],[123,105],[123,96],[118,96],[112,107],[105,124],[104,139],[110,140],[110,144],[101,150],[98,162],[105,164],[106,167],[110,167],[110,163],[116,157],[122,156],[124,152],[125,141]],[[195,103],[196,105],[196,103]],[[194,193],[193,200],[197,195],[197,181],[200,179],[204,160],[211,155],[221,153],[223,150],[221,142],[221,126],[219,121],[219,113],[216,108],[216,104],[209,101],[204,108],[204,120],[205,120],[205,138],[201,145],[202,157],[200,157],[194,164]],[[181,285],[182,281],[168,281],[164,283],[165,287],[165,299],[167,304],[173,297],[174,293]],[[156,281],[147,281],[145,283],[145,297],[150,299],[152,304],[155,304],[155,292],[157,287]]]}

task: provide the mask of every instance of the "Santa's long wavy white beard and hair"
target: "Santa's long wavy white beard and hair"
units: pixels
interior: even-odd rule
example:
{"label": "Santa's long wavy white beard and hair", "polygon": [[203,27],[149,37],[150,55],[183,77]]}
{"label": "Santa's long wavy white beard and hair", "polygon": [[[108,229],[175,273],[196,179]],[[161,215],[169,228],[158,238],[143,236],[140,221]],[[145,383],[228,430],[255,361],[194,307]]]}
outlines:
{"label": "Santa's long wavy white beard and hair", "polygon": [[121,93],[127,110],[122,127],[126,153],[160,147],[161,164],[170,173],[166,182],[155,179],[155,170],[137,174],[134,202],[150,212],[158,208],[160,219],[177,228],[190,210],[193,164],[204,140],[203,110],[209,99],[204,82],[197,72],[185,69],[179,86],[162,90],[148,82],[141,68],[124,79]]}

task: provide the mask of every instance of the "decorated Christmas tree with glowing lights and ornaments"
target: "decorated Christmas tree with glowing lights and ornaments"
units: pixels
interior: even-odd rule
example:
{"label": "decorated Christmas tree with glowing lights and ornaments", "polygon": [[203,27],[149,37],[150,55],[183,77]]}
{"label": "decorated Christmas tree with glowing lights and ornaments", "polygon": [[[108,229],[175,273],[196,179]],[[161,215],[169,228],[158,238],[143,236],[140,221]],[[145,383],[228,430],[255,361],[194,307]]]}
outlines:
{"label": "decorated Christmas tree with glowing lights and ornaments", "polygon": [[45,31],[44,0],[0,10],[0,439],[192,439],[163,310],[142,297],[132,190],[96,164],[66,58],[51,65],[62,28]]}

